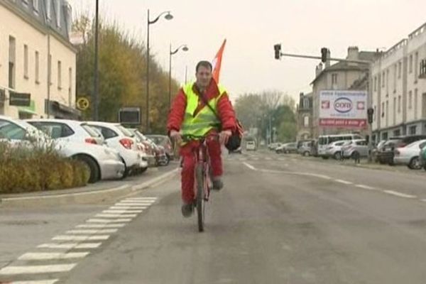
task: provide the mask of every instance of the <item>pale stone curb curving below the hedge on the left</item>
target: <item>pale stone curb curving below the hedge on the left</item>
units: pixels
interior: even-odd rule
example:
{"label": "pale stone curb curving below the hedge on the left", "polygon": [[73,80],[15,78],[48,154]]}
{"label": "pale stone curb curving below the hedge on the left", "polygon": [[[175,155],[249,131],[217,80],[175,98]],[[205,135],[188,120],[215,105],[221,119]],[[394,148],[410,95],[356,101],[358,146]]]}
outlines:
{"label": "pale stone curb curving below the hedge on the left", "polygon": [[159,175],[139,185],[124,184],[119,187],[107,188],[104,190],[95,190],[92,192],[75,192],[75,193],[58,193],[57,195],[40,195],[30,197],[5,197],[0,198],[1,207],[28,207],[28,206],[51,206],[62,205],[70,203],[94,203],[94,202],[107,202],[114,200],[124,195],[129,195],[138,190],[144,190],[153,185],[159,185],[165,182],[173,175],[178,173],[178,168],[170,170],[170,172]]}

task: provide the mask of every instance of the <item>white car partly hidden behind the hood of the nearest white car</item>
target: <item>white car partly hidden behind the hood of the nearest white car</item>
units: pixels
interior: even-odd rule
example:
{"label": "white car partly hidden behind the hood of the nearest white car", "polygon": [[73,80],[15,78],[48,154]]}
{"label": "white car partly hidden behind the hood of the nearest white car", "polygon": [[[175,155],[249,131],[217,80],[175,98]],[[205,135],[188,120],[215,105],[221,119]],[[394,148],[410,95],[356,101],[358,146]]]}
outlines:
{"label": "white car partly hidden behind the hood of the nearest white car", "polygon": [[104,137],[99,132],[82,121],[66,119],[27,119],[26,121],[48,133],[53,139],[97,145],[105,143]]}

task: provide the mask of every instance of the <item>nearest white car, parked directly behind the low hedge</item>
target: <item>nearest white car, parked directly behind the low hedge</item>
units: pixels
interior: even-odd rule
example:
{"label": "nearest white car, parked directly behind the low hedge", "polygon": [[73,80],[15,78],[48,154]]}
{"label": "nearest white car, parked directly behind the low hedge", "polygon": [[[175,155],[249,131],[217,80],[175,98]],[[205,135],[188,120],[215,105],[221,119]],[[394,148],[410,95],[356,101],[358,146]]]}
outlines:
{"label": "nearest white car, parked directly behind the low hedge", "polygon": [[0,116],[0,141],[10,141],[31,146],[30,141],[37,141],[40,146],[53,145],[60,155],[81,160],[87,165],[89,182],[110,180],[124,176],[124,163],[116,151],[105,146],[73,141],[56,141],[26,121]]}

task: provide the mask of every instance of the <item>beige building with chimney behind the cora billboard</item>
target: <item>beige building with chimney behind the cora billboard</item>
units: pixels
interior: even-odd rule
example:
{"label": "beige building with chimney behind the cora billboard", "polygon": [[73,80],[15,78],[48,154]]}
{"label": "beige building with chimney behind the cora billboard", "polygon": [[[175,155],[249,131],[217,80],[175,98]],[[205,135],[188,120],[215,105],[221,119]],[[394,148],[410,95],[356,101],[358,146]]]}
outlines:
{"label": "beige building with chimney behind the cora billboard", "polygon": [[[364,60],[373,62],[378,52],[359,51],[357,47],[349,47],[347,60]],[[359,132],[359,129],[327,128],[320,126],[320,92],[329,89],[354,89],[368,75],[368,65],[338,62],[331,65],[329,61],[316,67],[315,80],[312,82],[312,136],[324,134]],[[361,84],[362,85],[362,84]],[[362,87],[365,88],[365,87]]]}

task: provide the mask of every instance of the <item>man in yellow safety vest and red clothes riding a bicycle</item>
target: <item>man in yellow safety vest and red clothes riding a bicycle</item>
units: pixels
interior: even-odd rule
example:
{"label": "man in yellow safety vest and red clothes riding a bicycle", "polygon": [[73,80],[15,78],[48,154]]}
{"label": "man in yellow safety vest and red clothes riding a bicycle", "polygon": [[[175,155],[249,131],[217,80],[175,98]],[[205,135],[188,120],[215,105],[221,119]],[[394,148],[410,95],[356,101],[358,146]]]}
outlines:
{"label": "man in yellow safety vest and red clothes riding a bicycle", "polygon": [[207,137],[213,190],[221,190],[224,186],[221,144],[226,144],[232,131],[236,129],[234,108],[226,90],[212,78],[212,64],[208,61],[200,61],[195,71],[196,82],[186,84],[179,90],[170,109],[167,124],[170,137],[181,143],[182,215],[184,217],[190,217],[194,208],[195,157],[193,152],[200,146],[200,142],[192,140],[182,143],[182,135]]}

